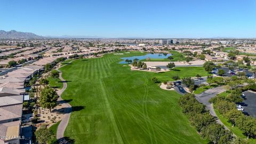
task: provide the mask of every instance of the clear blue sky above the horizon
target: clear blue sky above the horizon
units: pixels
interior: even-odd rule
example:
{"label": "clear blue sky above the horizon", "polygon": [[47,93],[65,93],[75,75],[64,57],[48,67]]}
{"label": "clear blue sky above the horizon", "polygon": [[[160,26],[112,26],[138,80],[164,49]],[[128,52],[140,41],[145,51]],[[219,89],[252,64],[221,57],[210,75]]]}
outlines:
{"label": "clear blue sky above the horizon", "polygon": [[256,0],[1,0],[0,5],[0,29],[42,36],[256,37]]}

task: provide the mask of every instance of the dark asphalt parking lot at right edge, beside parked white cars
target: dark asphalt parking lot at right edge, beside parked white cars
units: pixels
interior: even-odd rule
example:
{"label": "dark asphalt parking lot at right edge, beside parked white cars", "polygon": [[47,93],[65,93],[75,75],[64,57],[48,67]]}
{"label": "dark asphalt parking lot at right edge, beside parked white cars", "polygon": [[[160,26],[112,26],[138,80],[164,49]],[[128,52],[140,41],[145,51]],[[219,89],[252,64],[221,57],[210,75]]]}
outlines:
{"label": "dark asphalt parking lot at right edge, beside parked white cars", "polygon": [[244,107],[244,113],[248,113],[250,116],[256,117],[256,92],[246,91],[245,100],[242,103]]}

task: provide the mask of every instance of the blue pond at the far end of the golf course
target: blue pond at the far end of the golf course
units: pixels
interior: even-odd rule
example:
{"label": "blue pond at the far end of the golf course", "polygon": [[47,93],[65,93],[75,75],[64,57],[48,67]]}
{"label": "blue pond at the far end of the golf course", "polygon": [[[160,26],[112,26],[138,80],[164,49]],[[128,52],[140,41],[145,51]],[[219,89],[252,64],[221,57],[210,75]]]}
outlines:
{"label": "blue pond at the far end of the golf course", "polygon": [[146,55],[121,58],[121,59],[123,59],[123,61],[121,61],[119,63],[121,63],[121,64],[127,63],[127,62],[125,62],[126,59],[129,59],[129,60],[132,60],[132,61],[134,59],[142,60],[142,59],[147,59],[147,58],[150,58],[150,59],[165,59],[165,58],[168,58],[171,55],[172,54],[170,54],[170,53],[168,53],[168,54],[164,54],[164,53],[148,53]]}

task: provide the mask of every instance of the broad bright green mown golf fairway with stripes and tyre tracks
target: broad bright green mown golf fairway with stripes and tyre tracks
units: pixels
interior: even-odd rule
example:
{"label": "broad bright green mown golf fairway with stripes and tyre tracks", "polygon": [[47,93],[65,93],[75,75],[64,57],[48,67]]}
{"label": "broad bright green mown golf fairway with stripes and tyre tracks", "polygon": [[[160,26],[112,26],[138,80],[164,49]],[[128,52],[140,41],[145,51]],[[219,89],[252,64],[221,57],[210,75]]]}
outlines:
{"label": "broad bright green mown golf fairway with stripes and tyre tracks", "polygon": [[105,54],[60,68],[68,81],[62,98],[73,107],[65,137],[75,143],[207,143],[182,114],[181,95],[151,81],[207,73],[202,67],[180,67],[157,74],[118,64],[121,57],[141,54]]}

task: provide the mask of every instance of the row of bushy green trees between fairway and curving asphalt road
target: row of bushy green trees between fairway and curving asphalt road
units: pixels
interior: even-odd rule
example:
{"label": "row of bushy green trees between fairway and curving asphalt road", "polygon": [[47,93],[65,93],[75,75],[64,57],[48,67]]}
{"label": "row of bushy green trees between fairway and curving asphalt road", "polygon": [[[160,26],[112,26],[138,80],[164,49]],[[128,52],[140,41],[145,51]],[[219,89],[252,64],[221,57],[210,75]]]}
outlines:
{"label": "row of bushy green trees between fairway and curving asphalt road", "polygon": [[231,143],[234,141],[233,134],[216,123],[215,118],[205,109],[205,105],[196,100],[194,94],[185,94],[180,98],[179,105],[202,138],[213,143]]}

